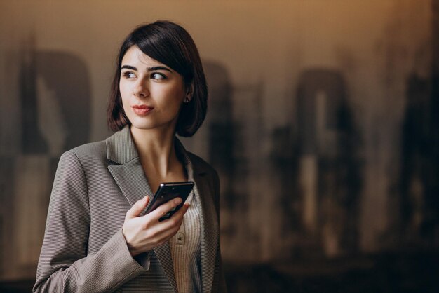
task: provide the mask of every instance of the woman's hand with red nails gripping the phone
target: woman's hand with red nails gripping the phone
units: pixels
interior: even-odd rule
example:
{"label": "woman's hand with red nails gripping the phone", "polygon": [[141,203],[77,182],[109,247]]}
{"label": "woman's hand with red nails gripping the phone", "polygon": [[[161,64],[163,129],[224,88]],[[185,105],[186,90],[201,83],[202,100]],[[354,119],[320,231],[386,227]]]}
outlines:
{"label": "woman's hand with red nails gripping the phone", "polygon": [[170,219],[159,222],[158,219],[179,205],[182,199],[169,200],[168,203],[163,203],[149,214],[139,217],[140,212],[147,207],[148,201],[148,196],[137,200],[126,212],[125,222],[123,222],[122,233],[133,257],[152,250],[173,237],[180,229],[183,216],[189,208],[189,204],[185,203]]}

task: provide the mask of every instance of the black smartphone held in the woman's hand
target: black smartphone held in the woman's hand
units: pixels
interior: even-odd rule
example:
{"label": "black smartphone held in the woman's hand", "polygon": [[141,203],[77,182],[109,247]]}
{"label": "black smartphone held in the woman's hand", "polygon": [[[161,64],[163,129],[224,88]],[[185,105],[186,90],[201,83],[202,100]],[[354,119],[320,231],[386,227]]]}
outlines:
{"label": "black smartphone held in the woman's hand", "polygon": [[161,183],[160,186],[158,186],[156,194],[154,194],[154,198],[147,209],[147,213],[156,210],[157,207],[163,205],[163,203],[167,203],[173,198],[182,198],[182,203],[180,203],[180,205],[177,205],[177,207],[174,207],[173,210],[167,212],[163,217],[158,219],[158,221],[169,219],[184,205],[184,201],[186,201],[187,197],[191,193],[192,188],[194,188],[194,182],[191,181]]}

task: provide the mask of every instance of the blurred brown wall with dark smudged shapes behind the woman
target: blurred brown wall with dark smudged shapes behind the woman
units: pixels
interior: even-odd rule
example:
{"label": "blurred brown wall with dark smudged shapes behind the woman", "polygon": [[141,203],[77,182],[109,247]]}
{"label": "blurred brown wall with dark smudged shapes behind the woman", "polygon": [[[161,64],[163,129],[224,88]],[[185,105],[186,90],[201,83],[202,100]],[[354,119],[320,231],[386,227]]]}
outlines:
{"label": "blurred brown wall with dark smudged shapes behind the woman", "polygon": [[111,135],[118,47],[166,19],[193,36],[208,77],[208,118],[184,144],[222,180],[231,292],[256,292],[255,276],[275,292],[338,272],[325,279],[337,292],[378,267],[396,270],[384,288],[431,289],[438,11],[434,0],[1,0],[0,280],[32,282],[60,154]]}

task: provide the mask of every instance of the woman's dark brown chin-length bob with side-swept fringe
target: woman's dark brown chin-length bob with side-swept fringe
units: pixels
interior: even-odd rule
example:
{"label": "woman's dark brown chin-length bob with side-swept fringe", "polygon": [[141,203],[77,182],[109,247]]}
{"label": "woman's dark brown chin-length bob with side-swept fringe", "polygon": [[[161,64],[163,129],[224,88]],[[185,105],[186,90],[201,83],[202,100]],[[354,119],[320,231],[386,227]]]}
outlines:
{"label": "woman's dark brown chin-length bob with side-swept fringe", "polygon": [[175,70],[183,77],[186,88],[192,87],[192,98],[182,104],[175,132],[182,137],[194,135],[205,118],[208,87],[194,40],[183,27],[169,21],[140,25],[123,41],[116,60],[116,73],[109,97],[107,111],[109,128],[116,132],[126,125],[131,125],[123,111],[119,89],[122,58],[131,46],[137,46],[144,54]]}

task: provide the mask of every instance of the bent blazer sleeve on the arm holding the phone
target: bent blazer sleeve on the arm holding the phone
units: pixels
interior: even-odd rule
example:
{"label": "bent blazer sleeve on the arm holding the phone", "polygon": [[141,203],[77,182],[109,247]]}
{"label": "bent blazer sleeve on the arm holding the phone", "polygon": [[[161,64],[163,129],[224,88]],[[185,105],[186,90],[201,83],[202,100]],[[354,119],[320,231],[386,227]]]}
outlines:
{"label": "bent blazer sleeve on the arm holding the phone", "polygon": [[68,151],[53,183],[33,292],[112,292],[146,271],[131,257],[121,229],[88,254],[89,225],[86,175]]}

